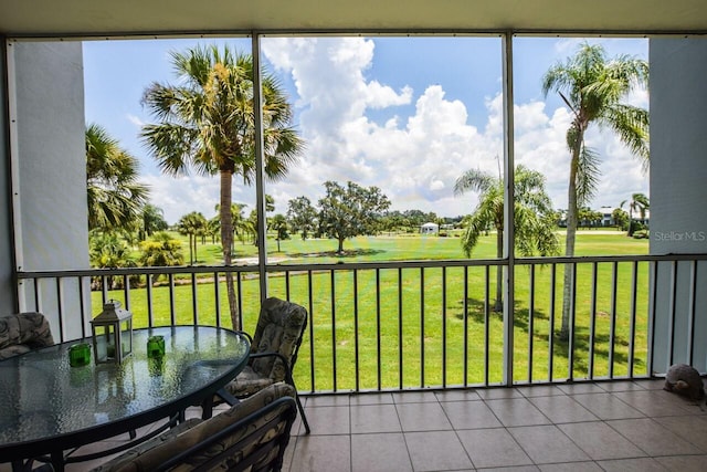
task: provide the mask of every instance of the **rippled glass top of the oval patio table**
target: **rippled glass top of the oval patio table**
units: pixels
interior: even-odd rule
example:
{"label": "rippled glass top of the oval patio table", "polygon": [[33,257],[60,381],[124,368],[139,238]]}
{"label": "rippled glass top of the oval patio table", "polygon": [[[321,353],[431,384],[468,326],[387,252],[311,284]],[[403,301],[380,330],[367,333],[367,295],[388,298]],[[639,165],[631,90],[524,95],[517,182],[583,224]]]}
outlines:
{"label": "rippled glass top of the oval patio table", "polygon": [[[165,336],[165,357],[147,357],[147,339]],[[84,342],[91,343],[91,339]],[[210,326],[136,329],[123,364],[71,367],[64,343],[0,361],[0,449],[125,419],[215,384],[247,361],[247,338]],[[226,379],[226,376],[228,379]]]}

